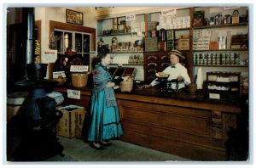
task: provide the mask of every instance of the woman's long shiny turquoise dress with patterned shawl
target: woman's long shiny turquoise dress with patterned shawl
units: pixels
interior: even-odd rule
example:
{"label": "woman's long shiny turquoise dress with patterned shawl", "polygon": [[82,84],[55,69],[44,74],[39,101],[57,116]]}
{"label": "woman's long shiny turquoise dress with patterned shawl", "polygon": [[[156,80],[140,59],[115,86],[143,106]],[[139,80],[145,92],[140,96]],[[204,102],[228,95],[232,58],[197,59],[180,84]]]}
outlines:
{"label": "woman's long shiny turquoise dress with patterned shawl", "polygon": [[89,142],[119,138],[123,135],[119,119],[119,109],[114,96],[113,87],[107,88],[112,77],[101,63],[93,72],[93,84],[90,104]]}

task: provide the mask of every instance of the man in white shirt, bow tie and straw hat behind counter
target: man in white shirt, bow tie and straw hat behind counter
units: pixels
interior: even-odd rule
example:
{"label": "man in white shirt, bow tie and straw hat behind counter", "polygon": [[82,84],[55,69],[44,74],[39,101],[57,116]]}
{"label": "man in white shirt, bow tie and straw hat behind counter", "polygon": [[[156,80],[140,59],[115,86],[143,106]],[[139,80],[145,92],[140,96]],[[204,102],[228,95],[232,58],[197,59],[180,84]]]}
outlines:
{"label": "man in white shirt, bow tie and straw hat behind counter", "polygon": [[[172,52],[168,53],[168,56],[171,61],[171,65],[168,66],[165,70],[162,72],[159,72],[159,76],[166,76],[169,75],[167,81],[177,80],[179,81],[179,89],[183,88],[189,83],[191,83],[188,70],[179,63],[180,59],[185,59],[183,54],[178,50],[172,50]],[[149,85],[144,85],[143,87],[154,87],[155,85],[160,84],[160,81],[157,81],[156,79],[152,81]]]}

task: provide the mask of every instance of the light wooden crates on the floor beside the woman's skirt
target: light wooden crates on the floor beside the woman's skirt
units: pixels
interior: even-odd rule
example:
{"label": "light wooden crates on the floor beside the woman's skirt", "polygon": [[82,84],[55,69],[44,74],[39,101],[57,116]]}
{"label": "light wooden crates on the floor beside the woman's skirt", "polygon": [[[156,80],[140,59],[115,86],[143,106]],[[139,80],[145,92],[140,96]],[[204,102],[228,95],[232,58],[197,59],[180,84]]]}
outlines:
{"label": "light wooden crates on the floor beside the woman's skirt", "polygon": [[63,113],[61,120],[57,124],[57,136],[61,137],[82,137],[85,109],[82,106],[67,105],[57,108]]}

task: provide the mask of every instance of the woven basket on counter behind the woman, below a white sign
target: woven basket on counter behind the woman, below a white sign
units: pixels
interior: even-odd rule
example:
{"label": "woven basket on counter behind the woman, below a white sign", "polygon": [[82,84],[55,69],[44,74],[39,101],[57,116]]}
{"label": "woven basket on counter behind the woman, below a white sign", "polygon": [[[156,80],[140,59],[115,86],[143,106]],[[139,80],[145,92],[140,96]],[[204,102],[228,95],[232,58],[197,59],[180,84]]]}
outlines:
{"label": "woven basket on counter behind the woman, below a white sign", "polygon": [[72,73],[71,80],[73,87],[86,87],[88,81],[88,74]]}

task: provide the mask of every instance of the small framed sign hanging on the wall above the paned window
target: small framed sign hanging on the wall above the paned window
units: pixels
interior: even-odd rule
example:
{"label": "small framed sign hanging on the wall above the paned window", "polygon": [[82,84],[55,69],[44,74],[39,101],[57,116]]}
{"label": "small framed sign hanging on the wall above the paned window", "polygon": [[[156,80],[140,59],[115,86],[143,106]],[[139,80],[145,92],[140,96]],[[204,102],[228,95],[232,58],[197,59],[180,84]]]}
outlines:
{"label": "small framed sign hanging on the wall above the paned window", "polygon": [[83,13],[66,9],[66,20],[67,23],[76,24],[76,25],[83,25]]}

